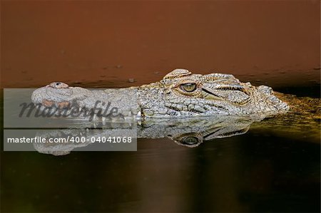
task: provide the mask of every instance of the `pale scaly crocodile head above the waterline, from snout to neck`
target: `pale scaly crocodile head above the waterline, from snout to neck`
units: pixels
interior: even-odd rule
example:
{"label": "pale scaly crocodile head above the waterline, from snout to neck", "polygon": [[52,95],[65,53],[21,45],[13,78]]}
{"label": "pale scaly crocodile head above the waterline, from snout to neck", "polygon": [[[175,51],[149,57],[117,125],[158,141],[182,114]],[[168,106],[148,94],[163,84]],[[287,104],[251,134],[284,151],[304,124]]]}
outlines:
{"label": "pale scaly crocodile head above the waterline, from snout to neck", "polygon": [[[156,83],[129,88],[88,90],[54,82],[34,90],[32,101],[42,108],[92,110],[105,119],[101,111],[122,118],[190,118],[212,115],[246,115],[266,118],[286,113],[290,106],[266,85],[242,83],[233,75],[193,74],[178,68]],[[282,95],[281,95],[282,96]],[[116,116],[115,116],[116,117]]]}

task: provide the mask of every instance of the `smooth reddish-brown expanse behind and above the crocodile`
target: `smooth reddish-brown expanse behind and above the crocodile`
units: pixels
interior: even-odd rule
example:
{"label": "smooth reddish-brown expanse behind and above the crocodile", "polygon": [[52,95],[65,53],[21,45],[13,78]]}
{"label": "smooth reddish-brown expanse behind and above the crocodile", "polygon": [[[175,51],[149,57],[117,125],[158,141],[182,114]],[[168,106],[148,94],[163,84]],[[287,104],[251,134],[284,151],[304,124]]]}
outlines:
{"label": "smooth reddish-brown expanse behind and above the crocodile", "polygon": [[320,1],[1,1],[2,88],[141,85],[174,68],[320,83]]}

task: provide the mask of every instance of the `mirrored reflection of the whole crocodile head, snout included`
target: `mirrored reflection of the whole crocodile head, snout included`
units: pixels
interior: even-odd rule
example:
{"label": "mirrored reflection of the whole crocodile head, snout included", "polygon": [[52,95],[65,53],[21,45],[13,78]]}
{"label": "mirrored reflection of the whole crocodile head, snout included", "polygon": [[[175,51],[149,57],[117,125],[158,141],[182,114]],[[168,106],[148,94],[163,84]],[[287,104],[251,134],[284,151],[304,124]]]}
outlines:
{"label": "mirrored reflection of the whole crocodile head, snout included", "polygon": [[[198,147],[205,141],[215,138],[232,137],[246,133],[253,122],[260,118],[233,117],[233,116],[210,116],[185,119],[150,119],[142,123],[93,123],[91,128],[77,128],[63,130],[39,130],[37,136],[46,140],[52,137],[103,137],[115,135],[115,133],[126,137],[130,131],[137,131],[138,138],[164,138],[168,137],[178,145],[184,147]],[[128,133],[128,135],[126,135]],[[51,155],[66,155],[78,147],[91,145],[91,140],[80,143],[34,143],[34,148],[41,153]]]}

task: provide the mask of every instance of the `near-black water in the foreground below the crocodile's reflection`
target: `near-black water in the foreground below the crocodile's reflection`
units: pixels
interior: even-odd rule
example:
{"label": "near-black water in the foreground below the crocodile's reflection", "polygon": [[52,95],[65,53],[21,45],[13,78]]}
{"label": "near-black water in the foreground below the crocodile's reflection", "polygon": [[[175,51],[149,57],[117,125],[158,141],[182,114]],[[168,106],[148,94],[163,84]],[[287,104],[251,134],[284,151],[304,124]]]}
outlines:
{"label": "near-black water in the foreground below the crocodile's reflection", "polygon": [[193,148],[1,152],[1,212],[320,212],[320,137],[307,134],[257,124]]}

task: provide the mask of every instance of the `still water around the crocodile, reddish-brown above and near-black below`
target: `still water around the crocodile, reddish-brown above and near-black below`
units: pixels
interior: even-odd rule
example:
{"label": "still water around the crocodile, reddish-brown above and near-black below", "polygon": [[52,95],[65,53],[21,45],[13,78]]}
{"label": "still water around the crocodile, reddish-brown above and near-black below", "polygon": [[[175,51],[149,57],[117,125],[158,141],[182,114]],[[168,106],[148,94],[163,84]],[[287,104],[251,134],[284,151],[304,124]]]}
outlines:
{"label": "still water around the crocodile, reddish-brown above and near-black below", "polygon": [[[1,88],[119,88],[178,67],[320,98],[320,1],[1,1]],[[1,152],[1,212],[320,212],[320,143],[296,134]]]}

